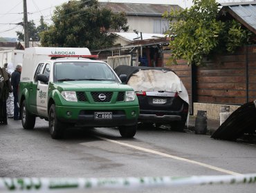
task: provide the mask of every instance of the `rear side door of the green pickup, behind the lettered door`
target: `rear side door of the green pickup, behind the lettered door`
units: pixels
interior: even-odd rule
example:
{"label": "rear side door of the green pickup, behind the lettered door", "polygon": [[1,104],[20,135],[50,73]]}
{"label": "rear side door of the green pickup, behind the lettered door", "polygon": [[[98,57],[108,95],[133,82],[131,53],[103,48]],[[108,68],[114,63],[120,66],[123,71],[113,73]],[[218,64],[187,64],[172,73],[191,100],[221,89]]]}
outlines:
{"label": "rear side door of the green pickup, behind the lettered door", "polygon": [[37,74],[42,72],[43,67],[44,63],[39,63],[39,65],[37,65],[37,70],[35,71],[33,82],[30,83],[29,88],[29,108],[31,112],[35,114],[37,114]]}

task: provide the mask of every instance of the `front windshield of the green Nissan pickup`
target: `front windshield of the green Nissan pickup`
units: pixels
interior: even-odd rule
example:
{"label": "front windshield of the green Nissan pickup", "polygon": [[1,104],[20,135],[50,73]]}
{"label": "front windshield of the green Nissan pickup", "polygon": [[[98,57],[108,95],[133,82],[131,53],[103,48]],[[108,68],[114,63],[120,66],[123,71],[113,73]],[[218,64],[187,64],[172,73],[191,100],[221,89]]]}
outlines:
{"label": "front windshield of the green Nissan pickup", "polygon": [[54,81],[118,81],[106,63],[90,61],[56,62]]}

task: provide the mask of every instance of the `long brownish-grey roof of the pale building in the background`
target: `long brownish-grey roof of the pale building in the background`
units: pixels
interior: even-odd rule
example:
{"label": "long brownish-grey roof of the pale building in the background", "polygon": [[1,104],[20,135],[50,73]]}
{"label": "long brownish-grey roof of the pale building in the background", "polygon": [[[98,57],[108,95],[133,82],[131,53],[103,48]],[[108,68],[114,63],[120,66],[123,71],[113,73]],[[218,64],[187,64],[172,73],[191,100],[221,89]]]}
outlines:
{"label": "long brownish-grey roof of the pale building in the background", "polygon": [[113,12],[125,12],[127,15],[156,15],[161,16],[165,11],[181,10],[178,5],[160,5],[146,3],[109,3],[99,2],[100,6],[110,8]]}

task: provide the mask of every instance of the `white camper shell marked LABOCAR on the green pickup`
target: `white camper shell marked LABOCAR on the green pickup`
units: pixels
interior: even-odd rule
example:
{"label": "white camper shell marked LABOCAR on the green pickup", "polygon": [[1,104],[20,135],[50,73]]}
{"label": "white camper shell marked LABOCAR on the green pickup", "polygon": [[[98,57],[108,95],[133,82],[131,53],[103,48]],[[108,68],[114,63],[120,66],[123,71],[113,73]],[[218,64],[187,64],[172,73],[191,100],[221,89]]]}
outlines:
{"label": "white camper shell marked LABOCAR on the green pickup", "polygon": [[32,81],[35,74],[36,66],[39,61],[58,57],[85,57],[97,58],[98,56],[91,55],[88,48],[52,48],[52,47],[32,47],[26,48],[24,52],[22,66],[21,81]]}

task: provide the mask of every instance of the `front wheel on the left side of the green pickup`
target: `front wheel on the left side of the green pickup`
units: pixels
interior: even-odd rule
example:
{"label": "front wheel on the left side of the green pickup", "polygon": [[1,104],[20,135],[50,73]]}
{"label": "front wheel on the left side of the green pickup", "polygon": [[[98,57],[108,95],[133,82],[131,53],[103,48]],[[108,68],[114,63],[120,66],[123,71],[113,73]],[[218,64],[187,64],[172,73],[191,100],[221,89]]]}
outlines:
{"label": "front wheel on the left side of the green pickup", "polygon": [[62,139],[64,134],[64,129],[62,128],[62,123],[57,119],[55,113],[55,105],[51,105],[49,111],[49,128],[50,134],[53,139]]}

